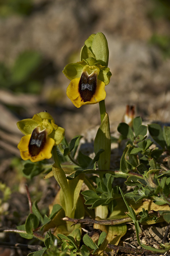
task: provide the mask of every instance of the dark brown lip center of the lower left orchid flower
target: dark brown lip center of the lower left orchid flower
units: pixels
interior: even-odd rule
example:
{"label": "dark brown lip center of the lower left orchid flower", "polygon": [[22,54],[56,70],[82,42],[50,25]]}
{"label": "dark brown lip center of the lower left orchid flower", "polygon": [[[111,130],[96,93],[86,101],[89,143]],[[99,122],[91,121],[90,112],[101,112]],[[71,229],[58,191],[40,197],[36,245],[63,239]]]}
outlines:
{"label": "dark brown lip center of the lower left orchid flower", "polygon": [[40,131],[40,127],[36,127],[32,134],[28,145],[31,156],[37,156],[44,148],[47,141],[46,130]]}

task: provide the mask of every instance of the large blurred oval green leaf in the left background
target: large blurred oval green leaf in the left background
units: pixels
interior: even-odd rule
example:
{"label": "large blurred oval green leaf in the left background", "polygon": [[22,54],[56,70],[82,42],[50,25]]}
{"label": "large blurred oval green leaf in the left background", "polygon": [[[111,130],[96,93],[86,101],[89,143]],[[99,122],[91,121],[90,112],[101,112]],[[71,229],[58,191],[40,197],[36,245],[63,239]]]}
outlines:
{"label": "large blurred oval green leaf in the left background", "polygon": [[21,83],[28,79],[31,72],[38,68],[42,61],[41,55],[36,51],[22,52],[11,69],[11,80]]}

